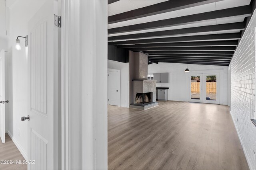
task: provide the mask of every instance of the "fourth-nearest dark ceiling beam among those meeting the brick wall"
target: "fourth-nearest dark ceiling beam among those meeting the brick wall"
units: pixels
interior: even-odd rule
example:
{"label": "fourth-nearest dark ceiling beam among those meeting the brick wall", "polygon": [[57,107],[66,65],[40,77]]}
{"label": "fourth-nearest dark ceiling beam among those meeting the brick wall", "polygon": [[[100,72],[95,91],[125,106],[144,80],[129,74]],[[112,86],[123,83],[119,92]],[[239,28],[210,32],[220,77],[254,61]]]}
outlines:
{"label": "fourth-nearest dark ceiling beam among those meeting the brick wall", "polygon": [[147,48],[147,47],[219,47],[219,46],[237,46],[238,40],[232,41],[200,41],[184,43],[152,43],[135,45],[118,45],[118,48]]}

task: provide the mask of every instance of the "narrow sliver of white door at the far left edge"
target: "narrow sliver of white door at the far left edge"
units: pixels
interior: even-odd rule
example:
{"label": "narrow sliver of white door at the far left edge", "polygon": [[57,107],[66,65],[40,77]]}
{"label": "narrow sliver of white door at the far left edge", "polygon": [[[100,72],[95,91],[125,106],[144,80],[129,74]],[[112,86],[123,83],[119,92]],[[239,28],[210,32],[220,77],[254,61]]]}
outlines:
{"label": "narrow sliver of white door at the far left edge", "polygon": [[0,137],[5,143],[5,77],[4,77],[4,50],[0,51]]}

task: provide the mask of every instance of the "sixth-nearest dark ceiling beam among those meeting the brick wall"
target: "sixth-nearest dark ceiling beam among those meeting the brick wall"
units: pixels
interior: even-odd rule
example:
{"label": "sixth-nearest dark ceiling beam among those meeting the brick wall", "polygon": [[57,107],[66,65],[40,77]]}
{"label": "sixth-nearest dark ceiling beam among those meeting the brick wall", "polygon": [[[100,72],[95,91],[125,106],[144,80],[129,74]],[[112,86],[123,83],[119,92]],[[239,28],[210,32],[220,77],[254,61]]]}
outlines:
{"label": "sixth-nearest dark ceiling beam among those meeting the brick wall", "polygon": [[220,55],[233,55],[234,51],[146,51],[143,53],[153,54],[220,54]]}

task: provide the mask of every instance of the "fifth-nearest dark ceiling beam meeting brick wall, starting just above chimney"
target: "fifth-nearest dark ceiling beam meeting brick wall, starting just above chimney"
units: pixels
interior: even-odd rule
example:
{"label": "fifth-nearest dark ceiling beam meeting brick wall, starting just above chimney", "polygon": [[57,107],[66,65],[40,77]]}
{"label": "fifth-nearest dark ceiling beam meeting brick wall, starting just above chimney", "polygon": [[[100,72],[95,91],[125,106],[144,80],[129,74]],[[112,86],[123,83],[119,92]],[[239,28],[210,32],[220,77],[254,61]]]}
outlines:
{"label": "fifth-nearest dark ceiling beam meeting brick wall, starting just above chimney", "polygon": [[132,48],[132,51],[235,51],[236,47],[148,47]]}

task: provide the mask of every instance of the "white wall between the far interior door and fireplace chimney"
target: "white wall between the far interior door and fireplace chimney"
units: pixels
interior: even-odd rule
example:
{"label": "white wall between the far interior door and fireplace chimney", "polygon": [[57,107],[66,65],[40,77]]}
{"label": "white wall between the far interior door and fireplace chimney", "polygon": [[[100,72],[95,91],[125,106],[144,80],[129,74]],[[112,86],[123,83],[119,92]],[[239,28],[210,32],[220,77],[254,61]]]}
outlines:
{"label": "white wall between the far interior door and fireplace chimney", "polygon": [[129,63],[108,60],[108,68],[120,70],[121,107],[129,107]]}

